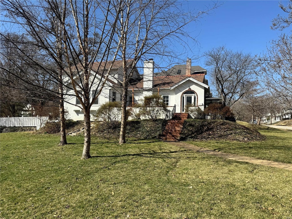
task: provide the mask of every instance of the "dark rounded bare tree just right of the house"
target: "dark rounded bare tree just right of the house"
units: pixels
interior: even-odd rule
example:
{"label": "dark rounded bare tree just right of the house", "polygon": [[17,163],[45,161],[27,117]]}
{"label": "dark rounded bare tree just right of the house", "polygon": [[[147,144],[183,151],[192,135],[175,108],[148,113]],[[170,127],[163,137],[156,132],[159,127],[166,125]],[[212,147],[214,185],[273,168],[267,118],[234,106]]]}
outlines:
{"label": "dark rounded bare tree just right of the house", "polygon": [[211,67],[211,81],[224,106],[232,106],[256,86],[256,63],[250,54],[220,46],[204,53],[205,65]]}

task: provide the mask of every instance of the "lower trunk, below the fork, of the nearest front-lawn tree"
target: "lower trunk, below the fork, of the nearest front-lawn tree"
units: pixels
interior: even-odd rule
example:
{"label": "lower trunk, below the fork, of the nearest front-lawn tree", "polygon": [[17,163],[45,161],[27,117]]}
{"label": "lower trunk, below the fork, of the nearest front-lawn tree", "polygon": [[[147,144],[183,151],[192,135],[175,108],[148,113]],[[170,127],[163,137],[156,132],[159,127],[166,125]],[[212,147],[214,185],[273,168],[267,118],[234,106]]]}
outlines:
{"label": "lower trunk, below the fork, of the nearest front-lawn tree", "polygon": [[81,159],[90,158],[90,109],[84,110],[84,147]]}

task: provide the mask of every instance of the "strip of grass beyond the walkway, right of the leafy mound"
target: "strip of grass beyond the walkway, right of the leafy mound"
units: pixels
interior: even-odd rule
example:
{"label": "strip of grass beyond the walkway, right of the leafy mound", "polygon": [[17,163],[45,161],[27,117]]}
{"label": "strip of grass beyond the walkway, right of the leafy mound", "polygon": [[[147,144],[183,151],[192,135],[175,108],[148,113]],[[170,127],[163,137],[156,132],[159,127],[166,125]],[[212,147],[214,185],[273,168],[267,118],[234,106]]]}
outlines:
{"label": "strip of grass beyond the walkway, right of the leafy mound", "polygon": [[188,141],[187,143],[226,153],[292,164],[292,131],[269,127],[258,131],[267,139],[255,142],[212,140]]}

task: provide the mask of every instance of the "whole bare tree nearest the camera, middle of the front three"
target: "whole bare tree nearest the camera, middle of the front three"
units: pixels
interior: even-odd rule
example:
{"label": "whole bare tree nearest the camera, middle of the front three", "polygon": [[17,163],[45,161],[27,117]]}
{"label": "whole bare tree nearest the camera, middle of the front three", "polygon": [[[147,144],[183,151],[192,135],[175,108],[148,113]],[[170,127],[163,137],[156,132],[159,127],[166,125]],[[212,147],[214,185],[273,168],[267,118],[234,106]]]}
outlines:
{"label": "whole bare tree nearest the camera, middle of the front three", "polygon": [[[90,108],[107,80],[119,47],[118,44],[112,45],[119,14],[119,6],[115,7],[115,4],[121,3],[3,1],[6,15],[14,19],[20,31],[37,42],[47,60],[55,62],[57,67],[53,74],[49,72],[50,77],[66,87],[66,95],[75,95],[80,101],[85,130],[83,159],[90,157]],[[116,15],[109,13],[112,7],[117,8]],[[43,68],[38,62],[33,62],[33,65]],[[70,93],[70,89],[74,92]],[[59,95],[62,104],[63,87],[59,87],[55,94]]]}

